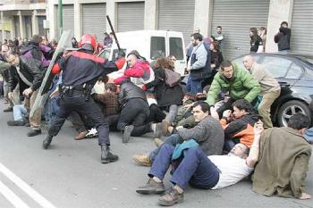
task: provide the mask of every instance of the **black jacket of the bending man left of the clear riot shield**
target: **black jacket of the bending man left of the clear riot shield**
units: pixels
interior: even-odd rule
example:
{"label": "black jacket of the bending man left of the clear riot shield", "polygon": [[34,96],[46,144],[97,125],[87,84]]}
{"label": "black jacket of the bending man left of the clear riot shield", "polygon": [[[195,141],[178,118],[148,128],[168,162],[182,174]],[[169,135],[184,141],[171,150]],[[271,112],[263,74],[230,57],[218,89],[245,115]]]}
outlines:
{"label": "black jacket of the bending man left of the clear riot shield", "polygon": [[[20,83],[20,91],[25,87],[31,87],[33,91],[37,90],[43,79],[43,69],[41,62],[33,58],[26,58],[20,56],[20,73],[27,79],[31,85],[27,85],[22,79],[16,69],[9,71],[9,90],[13,90],[18,83]],[[16,79],[18,77],[18,79]],[[18,83],[17,83],[18,81]]]}

